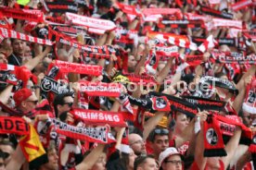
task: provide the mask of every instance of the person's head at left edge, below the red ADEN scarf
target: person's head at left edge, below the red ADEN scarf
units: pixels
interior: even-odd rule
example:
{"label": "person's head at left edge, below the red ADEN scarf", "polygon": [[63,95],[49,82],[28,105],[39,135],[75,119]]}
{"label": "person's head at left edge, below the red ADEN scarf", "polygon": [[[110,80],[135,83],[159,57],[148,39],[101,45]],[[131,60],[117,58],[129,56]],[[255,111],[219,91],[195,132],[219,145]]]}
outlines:
{"label": "person's head at left edge, below the red ADEN scarf", "polygon": [[12,153],[15,151],[14,144],[9,140],[2,140],[0,141],[0,150],[5,154],[5,164],[8,164],[11,160]]}

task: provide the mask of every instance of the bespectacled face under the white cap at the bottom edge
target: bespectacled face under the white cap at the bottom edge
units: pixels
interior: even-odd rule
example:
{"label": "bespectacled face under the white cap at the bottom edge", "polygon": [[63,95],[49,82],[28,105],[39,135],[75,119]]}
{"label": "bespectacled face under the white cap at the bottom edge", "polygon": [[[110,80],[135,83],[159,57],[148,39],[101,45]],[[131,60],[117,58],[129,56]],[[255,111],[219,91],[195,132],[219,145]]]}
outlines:
{"label": "bespectacled face under the white cap at the bottom edge", "polygon": [[180,155],[169,156],[161,165],[163,170],[182,170],[182,160]]}

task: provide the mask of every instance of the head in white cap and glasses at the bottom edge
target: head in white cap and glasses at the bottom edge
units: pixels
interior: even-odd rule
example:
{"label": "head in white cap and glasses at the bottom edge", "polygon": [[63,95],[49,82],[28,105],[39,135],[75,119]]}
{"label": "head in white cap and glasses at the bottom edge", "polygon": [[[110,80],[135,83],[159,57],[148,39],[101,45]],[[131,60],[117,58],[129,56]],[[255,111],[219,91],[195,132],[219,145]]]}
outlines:
{"label": "head in white cap and glasses at the bottom edge", "polygon": [[182,170],[183,161],[176,148],[170,147],[160,153],[159,163],[161,170]]}

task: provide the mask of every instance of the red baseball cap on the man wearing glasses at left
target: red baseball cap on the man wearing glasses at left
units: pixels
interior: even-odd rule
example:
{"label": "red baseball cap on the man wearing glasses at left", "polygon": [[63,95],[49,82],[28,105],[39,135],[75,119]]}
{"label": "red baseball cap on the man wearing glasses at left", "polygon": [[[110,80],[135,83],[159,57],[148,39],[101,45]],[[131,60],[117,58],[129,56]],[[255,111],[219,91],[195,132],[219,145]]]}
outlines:
{"label": "red baseball cap on the man wearing glasses at left", "polygon": [[20,89],[19,91],[16,91],[13,95],[13,99],[16,103],[16,106],[19,106],[19,104],[22,101],[26,101],[28,98],[31,97],[31,101],[37,101],[37,97],[34,94],[34,92],[32,92],[31,90],[24,88],[24,89]]}

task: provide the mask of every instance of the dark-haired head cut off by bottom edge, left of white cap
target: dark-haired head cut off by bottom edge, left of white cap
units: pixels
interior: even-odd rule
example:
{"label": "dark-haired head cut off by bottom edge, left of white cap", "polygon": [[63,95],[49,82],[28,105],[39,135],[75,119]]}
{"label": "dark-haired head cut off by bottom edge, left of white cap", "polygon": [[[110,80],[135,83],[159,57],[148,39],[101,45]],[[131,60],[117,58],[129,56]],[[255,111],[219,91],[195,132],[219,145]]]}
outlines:
{"label": "dark-haired head cut off by bottom edge, left of white cap", "polygon": [[134,161],[134,170],[158,170],[158,164],[152,155],[139,156]]}

